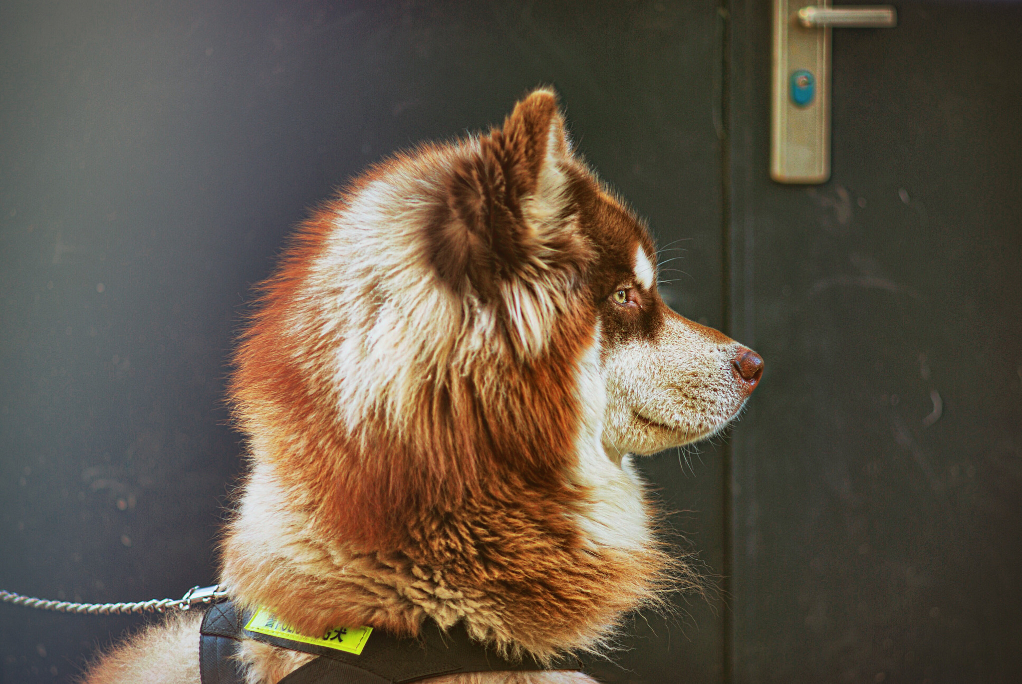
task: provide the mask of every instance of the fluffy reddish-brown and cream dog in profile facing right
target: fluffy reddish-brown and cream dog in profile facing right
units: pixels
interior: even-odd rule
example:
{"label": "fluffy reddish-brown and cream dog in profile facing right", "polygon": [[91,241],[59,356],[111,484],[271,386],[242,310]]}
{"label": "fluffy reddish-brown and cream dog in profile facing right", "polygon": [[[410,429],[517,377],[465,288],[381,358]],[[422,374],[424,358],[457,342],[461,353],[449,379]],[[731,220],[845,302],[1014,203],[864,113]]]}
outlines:
{"label": "fluffy reddish-brown and cream dog in profile facing right", "polygon": [[[718,432],[763,362],[663,303],[647,228],[573,151],[553,90],[357,178],[257,308],[230,383],[250,460],[221,549],[237,604],[304,634],[460,624],[545,663],[698,583],[633,459]],[[147,628],[86,681],[197,683],[199,619]],[[312,656],[245,640],[237,657],[271,684]]]}

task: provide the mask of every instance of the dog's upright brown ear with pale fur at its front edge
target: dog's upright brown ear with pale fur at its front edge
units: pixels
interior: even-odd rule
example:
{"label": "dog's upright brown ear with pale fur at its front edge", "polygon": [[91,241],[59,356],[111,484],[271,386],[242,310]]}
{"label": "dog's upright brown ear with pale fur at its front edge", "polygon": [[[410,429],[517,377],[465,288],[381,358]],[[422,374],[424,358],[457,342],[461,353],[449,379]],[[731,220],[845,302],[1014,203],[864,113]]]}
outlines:
{"label": "dog's upright brown ear with pale fur at its front edge", "polygon": [[503,128],[467,149],[448,177],[445,217],[433,236],[440,277],[492,302],[502,283],[570,268],[566,262],[576,262],[579,248],[565,226],[571,209],[562,163],[571,149],[556,94],[532,91]]}

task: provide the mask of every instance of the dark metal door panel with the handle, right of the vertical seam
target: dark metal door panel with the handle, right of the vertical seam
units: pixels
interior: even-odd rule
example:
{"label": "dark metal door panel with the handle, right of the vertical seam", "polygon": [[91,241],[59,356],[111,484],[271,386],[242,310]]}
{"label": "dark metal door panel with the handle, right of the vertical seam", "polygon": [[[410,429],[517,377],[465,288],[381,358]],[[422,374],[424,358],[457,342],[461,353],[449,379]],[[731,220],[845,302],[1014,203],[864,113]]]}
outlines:
{"label": "dark metal door panel with the handle, right of the vertical seam", "polygon": [[1022,5],[896,8],[834,31],[831,179],[786,186],[731,6],[735,682],[1022,677]]}

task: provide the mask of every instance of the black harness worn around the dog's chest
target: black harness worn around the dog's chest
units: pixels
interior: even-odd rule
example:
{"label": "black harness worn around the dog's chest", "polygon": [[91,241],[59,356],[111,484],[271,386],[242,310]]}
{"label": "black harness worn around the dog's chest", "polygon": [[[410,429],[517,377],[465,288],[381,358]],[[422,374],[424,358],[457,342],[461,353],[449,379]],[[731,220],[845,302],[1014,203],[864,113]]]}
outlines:
{"label": "black harness worn around the dog's chest", "polygon": [[215,603],[206,610],[199,629],[202,684],[244,684],[237,658],[241,639],[319,656],[280,680],[280,684],[406,684],[466,672],[586,671],[585,664],[575,657],[556,660],[547,668],[535,660],[508,662],[469,639],[460,625],[442,632],[430,622],[417,639],[399,639],[374,630],[362,652],[355,654],[248,631],[244,626],[250,617],[238,610],[233,601]]}

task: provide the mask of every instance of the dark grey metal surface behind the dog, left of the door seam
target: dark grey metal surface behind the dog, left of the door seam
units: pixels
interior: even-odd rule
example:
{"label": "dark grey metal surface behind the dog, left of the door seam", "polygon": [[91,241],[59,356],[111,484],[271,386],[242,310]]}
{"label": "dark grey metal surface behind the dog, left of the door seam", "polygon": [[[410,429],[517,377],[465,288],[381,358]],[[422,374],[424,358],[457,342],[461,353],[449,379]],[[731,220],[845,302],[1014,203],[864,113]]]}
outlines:
{"label": "dark grey metal surface behind the dog, left of the door seam", "polygon": [[[227,355],[307,208],[366,165],[560,92],[647,217],[671,303],[722,326],[723,17],[692,2],[0,6],[0,587],[83,601],[215,581],[242,470]],[[719,453],[644,466],[724,567]],[[634,621],[609,681],[719,681],[725,610]],[[141,621],[0,605],[9,682]]]}

